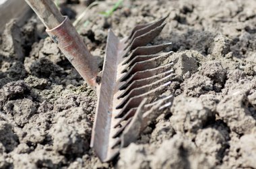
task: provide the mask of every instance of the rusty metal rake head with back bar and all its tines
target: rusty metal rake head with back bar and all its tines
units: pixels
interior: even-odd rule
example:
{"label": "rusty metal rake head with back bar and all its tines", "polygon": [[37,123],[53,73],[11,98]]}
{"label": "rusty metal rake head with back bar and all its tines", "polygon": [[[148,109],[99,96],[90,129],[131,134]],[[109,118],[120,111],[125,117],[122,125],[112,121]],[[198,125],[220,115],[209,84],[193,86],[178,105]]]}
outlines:
{"label": "rusty metal rake head with back bar and all its tines", "polygon": [[171,43],[146,46],[160,34],[164,19],[137,25],[123,40],[108,31],[91,140],[102,162],[134,142],[172,103],[172,96],[160,97],[173,77],[172,63],[164,64],[172,52],[162,52]]}

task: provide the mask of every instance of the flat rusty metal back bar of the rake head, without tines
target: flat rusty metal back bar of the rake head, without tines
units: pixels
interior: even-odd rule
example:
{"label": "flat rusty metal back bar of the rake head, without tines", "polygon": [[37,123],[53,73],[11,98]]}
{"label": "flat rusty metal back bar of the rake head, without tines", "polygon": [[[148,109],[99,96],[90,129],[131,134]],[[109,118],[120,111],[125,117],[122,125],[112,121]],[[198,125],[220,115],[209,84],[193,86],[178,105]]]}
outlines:
{"label": "flat rusty metal back bar of the rake head, without tines", "polygon": [[[119,39],[111,30],[108,31],[106,46],[106,58],[102,71],[99,95],[96,107],[94,126],[92,129],[91,147],[102,162],[110,160],[117,154],[116,150],[108,148],[111,144],[110,128],[113,95],[115,87],[115,74],[117,74],[117,54],[119,51]],[[122,49],[121,49],[122,50]],[[115,56],[115,57],[113,57]],[[111,74],[112,76],[109,76]],[[106,90],[107,89],[107,90]]]}

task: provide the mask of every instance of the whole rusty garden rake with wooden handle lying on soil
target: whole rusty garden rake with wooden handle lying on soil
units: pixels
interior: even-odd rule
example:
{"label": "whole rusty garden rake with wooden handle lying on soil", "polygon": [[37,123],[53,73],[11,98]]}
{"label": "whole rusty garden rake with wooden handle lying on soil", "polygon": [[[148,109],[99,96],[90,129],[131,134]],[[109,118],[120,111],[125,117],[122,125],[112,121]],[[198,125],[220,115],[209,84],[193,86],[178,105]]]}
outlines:
{"label": "whole rusty garden rake with wooden handle lying on soil", "polygon": [[91,147],[102,162],[113,160],[121,148],[135,142],[139,133],[172,103],[172,95],[162,95],[174,76],[172,63],[164,64],[172,52],[162,52],[171,43],[146,46],[160,34],[166,17],[135,26],[122,40],[108,30],[102,75],[96,82],[96,59],[71,21],[61,15],[51,0],[26,2],[77,72],[96,89]]}

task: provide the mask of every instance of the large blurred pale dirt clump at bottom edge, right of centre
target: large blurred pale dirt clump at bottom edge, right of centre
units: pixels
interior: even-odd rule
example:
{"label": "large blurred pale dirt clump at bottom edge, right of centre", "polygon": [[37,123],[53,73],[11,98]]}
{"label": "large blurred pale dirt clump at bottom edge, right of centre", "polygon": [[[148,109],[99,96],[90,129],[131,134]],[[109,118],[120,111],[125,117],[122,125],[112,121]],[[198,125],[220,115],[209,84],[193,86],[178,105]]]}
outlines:
{"label": "large blurred pale dirt clump at bottom edge, right of centre", "polygon": [[204,154],[195,148],[195,144],[179,135],[166,140],[154,154],[152,168],[212,168]]}

